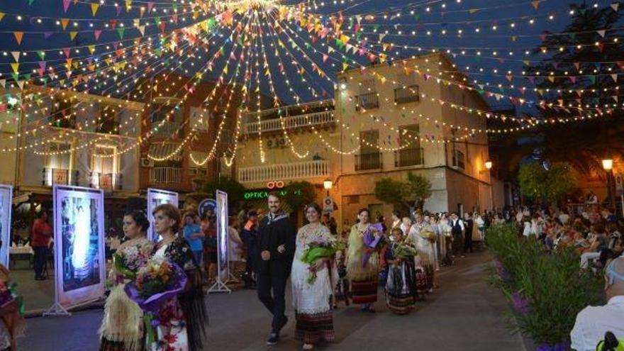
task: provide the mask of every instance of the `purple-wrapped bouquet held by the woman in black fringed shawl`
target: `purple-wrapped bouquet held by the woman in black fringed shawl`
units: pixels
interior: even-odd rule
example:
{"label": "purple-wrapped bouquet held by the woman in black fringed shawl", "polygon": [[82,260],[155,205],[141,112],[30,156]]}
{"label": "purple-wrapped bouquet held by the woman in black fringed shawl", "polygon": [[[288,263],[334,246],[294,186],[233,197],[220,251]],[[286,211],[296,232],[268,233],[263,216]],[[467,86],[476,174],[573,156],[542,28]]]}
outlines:
{"label": "purple-wrapped bouquet held by the woman in black fringed shawl", "polygon": [[146,337],[148,345],[154,339],[155,326],[160,324],[154,316],[160,306],[179,294],[186,286],[186,273],[177,264],[163,260],[149,262],[138,269],[136,279],[126,285],[126,294],[145,312]]}

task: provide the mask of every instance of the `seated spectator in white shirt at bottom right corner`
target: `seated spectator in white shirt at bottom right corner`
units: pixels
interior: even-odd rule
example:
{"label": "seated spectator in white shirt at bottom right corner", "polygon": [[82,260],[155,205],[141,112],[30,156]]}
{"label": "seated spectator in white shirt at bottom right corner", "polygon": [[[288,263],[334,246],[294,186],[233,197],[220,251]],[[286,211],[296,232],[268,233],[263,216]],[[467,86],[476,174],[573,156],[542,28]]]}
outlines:
{"label": "seated spectator in white shirt at bottom right corner", "polygon": [[573,350],[596,350],[608,331],[618,340],[624,340],[624,257],[608,264],[605,280],[608,302],[605,306],[587,306],[576,315],[570,332]]}

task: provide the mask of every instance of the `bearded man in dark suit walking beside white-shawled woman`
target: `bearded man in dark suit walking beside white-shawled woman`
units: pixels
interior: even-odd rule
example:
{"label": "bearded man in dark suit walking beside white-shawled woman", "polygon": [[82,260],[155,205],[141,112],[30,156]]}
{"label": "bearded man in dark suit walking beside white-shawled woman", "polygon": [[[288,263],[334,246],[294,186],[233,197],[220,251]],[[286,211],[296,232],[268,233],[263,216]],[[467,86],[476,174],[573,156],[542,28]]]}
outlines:
{"label": "bearded man in dark suit walking beside white-shawled woman", "polygon": [[290,275],[295,252],[297,230],[288,215],[282,212],[282,199],[279,194],[269,194],[269,215],[262,218],[258,228],[257,292],[258,299],[273,314],[271,334],[267,345],[274,345],[279,340],[279,331],[284,328],[288,318],[284,290],[286,279]]}

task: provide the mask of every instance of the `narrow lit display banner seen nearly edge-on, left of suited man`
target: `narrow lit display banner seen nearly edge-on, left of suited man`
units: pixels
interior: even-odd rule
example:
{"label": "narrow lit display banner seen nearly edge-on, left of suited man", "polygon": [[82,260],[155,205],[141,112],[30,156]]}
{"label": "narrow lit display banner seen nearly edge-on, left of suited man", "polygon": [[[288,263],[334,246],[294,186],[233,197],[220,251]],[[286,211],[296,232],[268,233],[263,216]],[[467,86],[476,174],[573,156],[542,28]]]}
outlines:
{"label": "narrow lit display banner seen nearly edge-on, left of suited man", "polygon": [[228,238],[228,194],[217,190],[215,199],[217,205],[217,274],[215,283],[206,290],[206,293],[227,292],[230,294],[232,290],[225,285],[230,281],[230,277],[233,277],[230,273],[230,262],[228,260],[228,250],[230,249],[230,240]]}

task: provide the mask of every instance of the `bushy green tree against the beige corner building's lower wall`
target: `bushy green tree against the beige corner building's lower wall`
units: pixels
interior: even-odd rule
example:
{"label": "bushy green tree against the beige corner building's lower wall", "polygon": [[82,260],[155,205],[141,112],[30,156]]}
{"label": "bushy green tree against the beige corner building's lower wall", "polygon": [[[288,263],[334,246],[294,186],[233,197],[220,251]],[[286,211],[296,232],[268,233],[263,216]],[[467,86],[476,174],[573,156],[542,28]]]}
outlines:
{"label": "bushy green tree against the beige corner building's lower wall", "polygon": [[409,211],[411,208],[423,208],[425,199],[431,196],[429,179],[408,173],[407,181],[401,182],[391,178],[381,178],[375,183],[375,197],[394,207]]}

